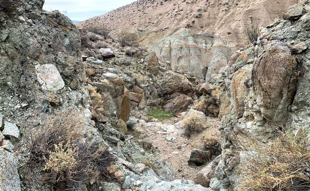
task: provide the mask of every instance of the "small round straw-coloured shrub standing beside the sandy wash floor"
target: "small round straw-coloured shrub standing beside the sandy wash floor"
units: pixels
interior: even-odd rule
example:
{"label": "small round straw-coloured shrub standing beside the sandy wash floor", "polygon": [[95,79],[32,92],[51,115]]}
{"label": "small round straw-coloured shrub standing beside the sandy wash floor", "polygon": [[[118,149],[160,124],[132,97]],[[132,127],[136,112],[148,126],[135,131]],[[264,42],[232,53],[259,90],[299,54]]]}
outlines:
{"label": "small round straw-coloured shrub standing beside the sandy wash floor", "polygon": [[192,112],[189,117],[183,120],[185,127],[185,135],[189,138],[192,134],[200,133],[205,129],[204,119],[195,112]]}

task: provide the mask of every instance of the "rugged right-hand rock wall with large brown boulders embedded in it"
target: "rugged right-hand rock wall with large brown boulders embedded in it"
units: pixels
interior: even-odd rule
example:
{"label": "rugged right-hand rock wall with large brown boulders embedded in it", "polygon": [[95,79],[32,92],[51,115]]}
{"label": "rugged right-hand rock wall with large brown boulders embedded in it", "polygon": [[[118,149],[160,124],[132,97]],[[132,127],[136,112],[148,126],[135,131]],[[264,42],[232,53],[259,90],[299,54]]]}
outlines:
{"label": "rugged right-hand rock wall with large brown boulders embedded in it", "polygon": [[261,29],[259,45],[237,53],[225,68],[220,109],[223,150],[210,180],[215,191],[238,185],[235,167],[246,159],[232,153],[238,153],[236,146],[248,138],[266,142],[275,135],[272,126],[309,132],[305,93],[310,88],[309,8],[294,5],[283,16]]}

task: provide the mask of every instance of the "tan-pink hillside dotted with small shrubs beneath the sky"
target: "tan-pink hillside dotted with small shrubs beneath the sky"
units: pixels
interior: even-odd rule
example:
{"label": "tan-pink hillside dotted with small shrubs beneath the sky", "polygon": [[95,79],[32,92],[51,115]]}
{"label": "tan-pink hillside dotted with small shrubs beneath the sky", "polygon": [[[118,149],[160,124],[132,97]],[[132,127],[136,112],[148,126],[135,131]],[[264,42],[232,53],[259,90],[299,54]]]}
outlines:
{"label": "tan-pink hillside dotted with small shrubs beneath the sky", "polygon": [[103,25],[112,32],[138,32],[150,45],[185,28],[191,34],[211,33],[230,46],[246,42],[243,26],[257,19],[267,26],[298,1],[270,0],[139,0],[104,15],[78,23],[78,27]]}

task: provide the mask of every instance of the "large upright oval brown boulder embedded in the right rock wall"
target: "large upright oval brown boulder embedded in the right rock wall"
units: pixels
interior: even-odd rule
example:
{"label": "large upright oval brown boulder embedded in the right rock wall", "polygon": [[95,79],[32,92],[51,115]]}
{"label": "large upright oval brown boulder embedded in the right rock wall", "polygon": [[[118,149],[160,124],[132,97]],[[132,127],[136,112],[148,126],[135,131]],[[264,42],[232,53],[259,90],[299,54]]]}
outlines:
{"label": "large upright oval brown boulder embedded in the right rock wall", "polygon": [[297,62],[287,45],[268,43],[252,68],[256,103],[265,119],[278,125],[286,121],[296,93],[297,75]]}

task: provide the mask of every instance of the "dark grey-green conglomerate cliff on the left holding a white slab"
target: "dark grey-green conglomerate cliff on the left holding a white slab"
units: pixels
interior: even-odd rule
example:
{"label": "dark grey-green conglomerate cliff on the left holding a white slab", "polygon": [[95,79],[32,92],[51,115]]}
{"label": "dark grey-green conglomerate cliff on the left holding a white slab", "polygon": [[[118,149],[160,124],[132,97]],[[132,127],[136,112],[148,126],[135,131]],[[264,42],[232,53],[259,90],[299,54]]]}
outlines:
{"label": "dark grey-green conglomerate cliff on the left holding a white slab", "polygon": [[42,11],[43,3],[0,3],[0,107],[5,114],[36,100],[68,102],[65,92],[80,90],[85,81],[78,29],[59,11]]}

